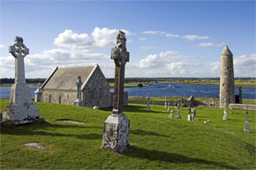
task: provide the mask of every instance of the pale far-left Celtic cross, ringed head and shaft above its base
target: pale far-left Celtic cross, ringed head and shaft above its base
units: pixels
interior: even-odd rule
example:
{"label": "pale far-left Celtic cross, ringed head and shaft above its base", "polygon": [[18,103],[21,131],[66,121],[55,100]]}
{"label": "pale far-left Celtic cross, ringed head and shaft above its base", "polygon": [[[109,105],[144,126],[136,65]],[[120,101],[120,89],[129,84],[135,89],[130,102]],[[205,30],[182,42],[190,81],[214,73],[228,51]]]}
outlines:
{"label": "pale far-left Celtic cross, ringed head and shaft above its base", "polygon": [[24,57],[29,54],[29,49],[23,44],[21,37],[15,37],[14,41],[9,47],[9,53],[15,57],[15,84],[26,84]]}

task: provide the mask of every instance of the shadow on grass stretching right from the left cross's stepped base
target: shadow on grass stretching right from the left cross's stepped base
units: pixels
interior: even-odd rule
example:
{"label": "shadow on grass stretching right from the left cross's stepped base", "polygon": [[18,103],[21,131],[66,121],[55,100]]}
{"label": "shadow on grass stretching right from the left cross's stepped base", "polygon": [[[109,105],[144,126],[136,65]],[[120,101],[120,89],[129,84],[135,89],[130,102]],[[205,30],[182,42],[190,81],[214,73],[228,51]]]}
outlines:
{"label": "shadow on grass stretching right from the left cross's stepped base", "polygon": [[84,127],[84,126],[76,126],[76,125],[69,125],[69,124],[51,124],[49,122],[43,122],[39,124],[30,124],[30,125],[23,125],[23,126],[14,126],[11,125],[10,122],[4,122],[1,126],[1,134],[8,134],[8,135],[17,135],[17,136],[48,136],[48,137],[77,137],[80,139],[100,139],[102,135],[96,133],[90,134],[65,134],[65,133],[56,133],[51,132],[52,130],[56,129],[102,129],[102,127]]}

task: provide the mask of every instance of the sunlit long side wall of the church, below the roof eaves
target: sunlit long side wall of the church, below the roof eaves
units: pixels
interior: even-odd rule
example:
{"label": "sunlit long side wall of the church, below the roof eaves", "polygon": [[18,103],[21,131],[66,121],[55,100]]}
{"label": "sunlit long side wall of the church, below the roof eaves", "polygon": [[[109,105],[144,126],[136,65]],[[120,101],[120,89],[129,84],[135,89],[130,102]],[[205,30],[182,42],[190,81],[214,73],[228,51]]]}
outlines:
{"label": "sunlit long side wall of the church, below the roof eaves", "polygon": [[74,100],[77,99],[77,91],[44,89],[41,98],[45,103],[73,105]]}

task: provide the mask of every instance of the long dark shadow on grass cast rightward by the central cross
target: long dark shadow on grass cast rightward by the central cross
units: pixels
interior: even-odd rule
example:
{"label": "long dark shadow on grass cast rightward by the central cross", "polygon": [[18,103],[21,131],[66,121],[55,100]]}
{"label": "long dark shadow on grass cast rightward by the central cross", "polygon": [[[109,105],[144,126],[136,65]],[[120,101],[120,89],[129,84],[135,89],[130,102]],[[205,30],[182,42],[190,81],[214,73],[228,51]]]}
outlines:
{"label": "long dark shadow on grass cast rightward by the central cross", "polygon": [[146,150],[137,146],[132,146],[128,151],[124,152],[127,157],[133,157],[138,159],[148,159],[152,161],[165,161],[174,164],[203,164],[210,166],[217,166],[227,169],[236,169],[236,167],[225,165],[224,163],[217,163],[213,161],[207,161],[204,159],[193,159],[184,155],[176,153],[160,152],[155,150]]}

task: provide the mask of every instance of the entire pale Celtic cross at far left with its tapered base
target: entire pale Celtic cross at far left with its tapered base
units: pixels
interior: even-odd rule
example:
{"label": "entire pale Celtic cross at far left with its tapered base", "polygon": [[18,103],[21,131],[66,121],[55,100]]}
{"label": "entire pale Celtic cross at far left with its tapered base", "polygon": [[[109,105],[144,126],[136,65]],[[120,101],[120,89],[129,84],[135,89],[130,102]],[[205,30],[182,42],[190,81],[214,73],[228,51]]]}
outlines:
{"label": "entire pale Celtic cross at far left with its tapered base", "polygon": [[43,122],[36,104],[32,102],[30,88],[26,85],[24,57],[29,54],[29,49],[21,37],[15,37],[14,41],[9,53],[15,57],[15,81],[11,85],[10,105],[5,107],[4,119],[15,125]]}

